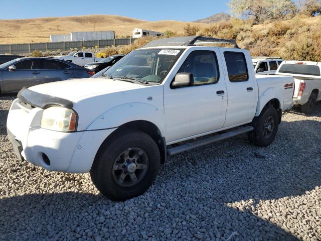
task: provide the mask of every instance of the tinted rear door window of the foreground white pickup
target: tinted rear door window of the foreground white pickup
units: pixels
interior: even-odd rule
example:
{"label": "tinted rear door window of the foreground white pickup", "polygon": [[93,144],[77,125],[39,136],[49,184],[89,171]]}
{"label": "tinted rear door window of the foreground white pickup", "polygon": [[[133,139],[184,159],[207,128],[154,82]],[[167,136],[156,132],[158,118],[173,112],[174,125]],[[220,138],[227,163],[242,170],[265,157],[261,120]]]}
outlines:
{"label": "tinted rear door window of the foreground white pickup", "polygon": [[246,60],[243,53],[224,52],[227,72],[231,82],[242,82],[248,80]]}

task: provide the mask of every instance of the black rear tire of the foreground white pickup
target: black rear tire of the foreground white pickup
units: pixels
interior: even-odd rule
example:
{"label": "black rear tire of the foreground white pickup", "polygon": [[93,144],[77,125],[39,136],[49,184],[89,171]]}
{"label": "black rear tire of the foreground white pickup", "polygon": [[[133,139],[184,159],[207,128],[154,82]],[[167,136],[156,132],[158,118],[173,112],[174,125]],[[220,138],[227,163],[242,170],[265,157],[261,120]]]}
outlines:
{"label": "black rear tire of the foreground white pickup", "polygon": [[[273,122],[273,125],[266,127],[266,123],[270,123],[270,121]],[[249,142],[258,147],[267,147],[274,141],[279,125],[276,109],[265,106],[260,115],[254,117],[251,125],[254,130],[247,133]]]}

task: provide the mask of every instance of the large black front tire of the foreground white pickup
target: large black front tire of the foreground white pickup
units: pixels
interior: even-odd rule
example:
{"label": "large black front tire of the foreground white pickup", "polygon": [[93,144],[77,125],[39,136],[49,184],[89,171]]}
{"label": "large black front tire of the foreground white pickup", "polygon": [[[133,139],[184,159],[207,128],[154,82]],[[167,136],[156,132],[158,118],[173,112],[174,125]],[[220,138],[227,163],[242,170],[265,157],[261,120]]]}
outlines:
{"label": "large black front tire of the foreground white pickup", "polygon": [[[136,150],[143,152],[137,160],[131,159],[128,162],[129,159],[121,155],[128,152],[127,157],[129,157],[130,152]],[[125,159],[127,159],[127,163]],[[134,164],[136,163],[137,169],[135,169],[134,173],[137,175],[136,181],[138,183],[134,184],[135,182],[131,177],[132,173],[129,173],[129,169],[126,169],[128,166],[125,167],[120,163],[122,160],[125,165],[128,163],[132,165],[132,160]],[[146,162],[146,160],[147,165],[143,165],[144,168],[138,169],[138,162]],[[143,132],[130,131],[127,134],[115,137],[111,142],[103,144],[90,170],[90,176],[94,185],[105,197],[115,201],[124,201],[143,194],[151,186],[156,178],[160,162],[161,155],[154,140]],[[119,170],[115,167],[119,167]],[[117,172],[120,174],[117,174]],[[144,174],[141,174],[142,172]],[[138,174],[141,175],[140,178]],[[118,184],[117,182],[120,183],[120,176],[122,175],[127,176],[122,178],[122,184]],[[125,186],[125,182],[132,182],[133,186]]]}

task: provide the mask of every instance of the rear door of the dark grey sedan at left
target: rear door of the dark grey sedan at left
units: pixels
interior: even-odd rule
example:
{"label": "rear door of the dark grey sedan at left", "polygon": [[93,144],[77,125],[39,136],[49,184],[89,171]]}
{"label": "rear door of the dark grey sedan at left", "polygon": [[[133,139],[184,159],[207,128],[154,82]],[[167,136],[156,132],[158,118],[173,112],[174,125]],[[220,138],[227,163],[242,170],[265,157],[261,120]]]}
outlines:
{"label": "rear door of the dark grey sedan at left", "polygon": [[41,60],[41,83],[66,80],[73,74],[72,66],[53,59]]}

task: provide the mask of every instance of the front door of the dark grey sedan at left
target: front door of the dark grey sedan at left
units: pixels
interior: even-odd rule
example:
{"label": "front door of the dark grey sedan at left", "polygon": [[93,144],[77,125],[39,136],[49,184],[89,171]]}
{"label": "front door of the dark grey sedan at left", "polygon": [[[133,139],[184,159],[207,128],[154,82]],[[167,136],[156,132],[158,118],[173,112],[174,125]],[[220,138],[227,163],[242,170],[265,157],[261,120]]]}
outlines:
{"label": "front door of the dark grey sedan at left", "polygon": [[41,72],[39,59],[21,60],[15,64],[16,70],[3,71],[3,85],[5,92],[18,92],[23,87],[31,87],[41,83]]}

